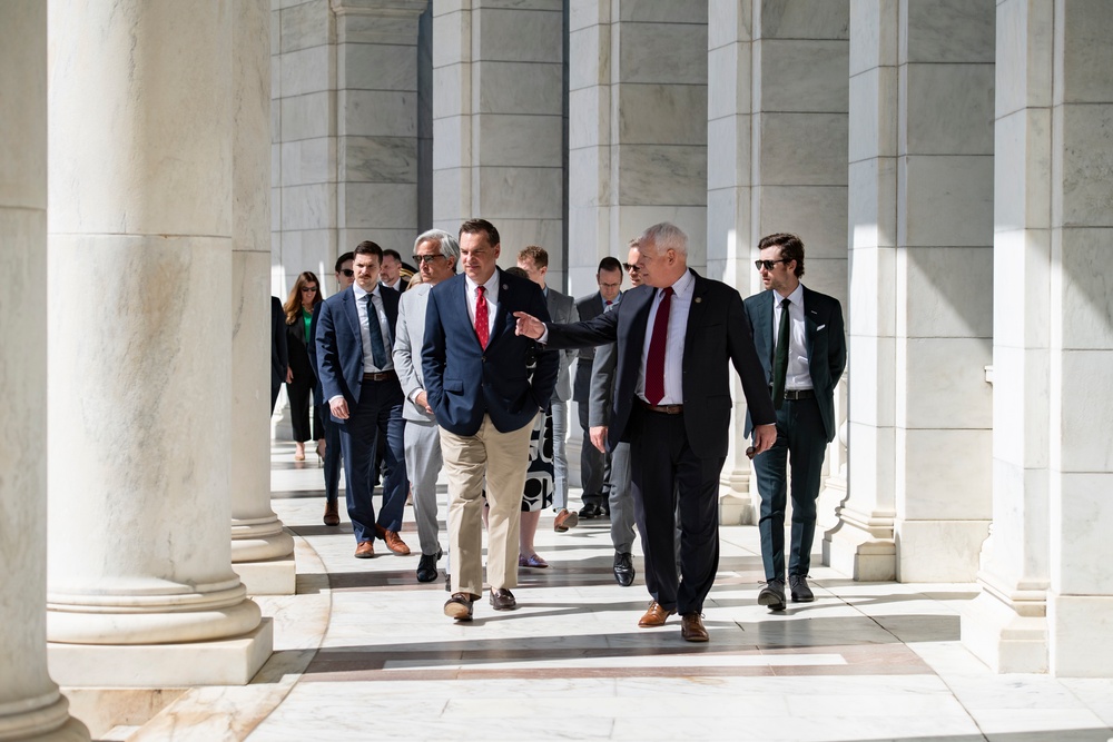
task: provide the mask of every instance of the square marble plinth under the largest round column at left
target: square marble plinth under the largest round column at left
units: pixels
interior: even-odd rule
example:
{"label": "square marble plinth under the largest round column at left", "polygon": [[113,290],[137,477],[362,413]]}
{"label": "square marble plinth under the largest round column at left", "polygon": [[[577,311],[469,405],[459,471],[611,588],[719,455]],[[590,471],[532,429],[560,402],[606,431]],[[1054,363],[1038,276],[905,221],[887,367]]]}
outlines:
{"label": "square marble plinth under the largest round column at left", "polygon": [[80,687],[246,685],[274,647],[274,622],[250,633],[183,644],[58,644],[48,642],[50,676]]}

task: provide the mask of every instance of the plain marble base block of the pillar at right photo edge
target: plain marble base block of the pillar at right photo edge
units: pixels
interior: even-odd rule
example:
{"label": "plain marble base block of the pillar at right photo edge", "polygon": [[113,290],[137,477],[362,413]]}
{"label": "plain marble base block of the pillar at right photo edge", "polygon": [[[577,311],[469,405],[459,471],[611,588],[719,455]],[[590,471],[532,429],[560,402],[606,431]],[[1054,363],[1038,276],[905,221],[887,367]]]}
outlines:
{"label": "plain marble base block of the pillar at right photo edge", "polygon": [[1113,595],[1047,600],[1050,665],[1057,677],[1113,677]]}

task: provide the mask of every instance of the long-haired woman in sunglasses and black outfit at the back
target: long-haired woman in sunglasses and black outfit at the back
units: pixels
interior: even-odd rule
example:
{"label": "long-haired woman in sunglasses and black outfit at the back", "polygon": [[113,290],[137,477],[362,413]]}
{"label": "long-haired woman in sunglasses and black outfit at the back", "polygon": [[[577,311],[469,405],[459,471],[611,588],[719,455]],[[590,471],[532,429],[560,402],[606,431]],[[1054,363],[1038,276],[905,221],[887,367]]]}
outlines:
{"label": "long-haired woman in sunglasses and black outfit at the back", "polygon": [[289,367],[286,369],[286,393],[289,395],[290,425],[297,449],[294,461],[305,461],[305,442],[316,439],[317,458],[325,456],[325,427],[321,421],[321,399],[313,405],[313,435],[309,435],[309,395],[317,386],[317,377],[309,364],[309,326],[313,311],[321,304],[321,283],[306,270],[294,281],[286,310],[286,340],[289,346]]}

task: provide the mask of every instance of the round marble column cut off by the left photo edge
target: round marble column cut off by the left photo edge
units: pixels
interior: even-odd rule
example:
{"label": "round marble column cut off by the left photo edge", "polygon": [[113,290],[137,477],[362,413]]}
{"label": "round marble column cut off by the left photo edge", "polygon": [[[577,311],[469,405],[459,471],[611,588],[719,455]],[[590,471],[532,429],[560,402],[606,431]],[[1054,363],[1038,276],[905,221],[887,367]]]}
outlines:
{"label": "round marble column cut off by the left photo edge", "polygon": [[47,7],[0,4],[0,740],[85,742],[47,671]]}

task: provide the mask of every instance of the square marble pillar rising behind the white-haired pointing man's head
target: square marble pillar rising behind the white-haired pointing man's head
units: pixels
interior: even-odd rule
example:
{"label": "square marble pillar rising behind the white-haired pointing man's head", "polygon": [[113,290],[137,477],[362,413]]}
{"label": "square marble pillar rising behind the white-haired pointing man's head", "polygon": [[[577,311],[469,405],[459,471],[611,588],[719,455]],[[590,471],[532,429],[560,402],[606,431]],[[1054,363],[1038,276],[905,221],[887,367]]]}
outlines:
{"label": "square marble pillar rising behind the white-haired pointing man's head", "polygon": [[571,0],[569,270],[577,295],[595,289],[608,255],[659,221],[707,260],[706,3]]}

